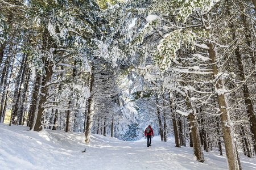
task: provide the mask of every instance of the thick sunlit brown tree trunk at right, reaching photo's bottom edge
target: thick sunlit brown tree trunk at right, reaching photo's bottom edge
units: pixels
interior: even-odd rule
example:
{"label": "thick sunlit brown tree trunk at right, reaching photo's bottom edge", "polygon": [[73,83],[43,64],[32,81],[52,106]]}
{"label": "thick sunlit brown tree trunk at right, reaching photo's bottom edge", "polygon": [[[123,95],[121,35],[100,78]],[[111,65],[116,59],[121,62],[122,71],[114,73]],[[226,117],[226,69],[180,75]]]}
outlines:
{"label": "thick sunlit brown tree trunk at right, reaching photo's bottom edge", "polygon": [[[209,57],[212,64],[213,74],[218,76],[218,67],[216,65],[216,49],[214,49],[213,44],[208,44],[209,47]],[[222,133],[224,135],[224,143],[226,148],[226,156],[228,159],[229,169],[241,169],[239,155],[237,155],[236,139],[234,137],[233,125],[231,124],[231,118],[226,105],[226,98],[221,90],[224,90],[224,85],[222,79],[218,78],[215,84],[215,90],[217,92],[218,105],[221,112],[221,125]]]}

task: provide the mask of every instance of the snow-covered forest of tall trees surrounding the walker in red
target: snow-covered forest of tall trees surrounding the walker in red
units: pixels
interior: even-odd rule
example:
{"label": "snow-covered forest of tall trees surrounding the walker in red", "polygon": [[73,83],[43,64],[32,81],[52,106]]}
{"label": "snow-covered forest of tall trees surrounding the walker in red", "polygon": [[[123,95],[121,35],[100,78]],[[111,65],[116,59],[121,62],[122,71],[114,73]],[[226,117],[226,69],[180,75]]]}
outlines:
{"label": "snow-covered forest of tall trees surrounding the walker in red", "polygon": [[255,11],[256,0],[0,0],[0,123],[84,133],[85,145],[137,141],[151,125],[195,162],[218,151],[245,168]]}

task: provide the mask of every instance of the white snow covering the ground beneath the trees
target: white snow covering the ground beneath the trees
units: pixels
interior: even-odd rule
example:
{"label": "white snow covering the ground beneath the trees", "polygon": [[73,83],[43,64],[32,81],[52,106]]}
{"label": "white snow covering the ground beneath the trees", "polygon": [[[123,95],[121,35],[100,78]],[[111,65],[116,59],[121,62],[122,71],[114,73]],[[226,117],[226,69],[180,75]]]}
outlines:
{"label": "white snow covering the ground beneath the trees", "polygon": [[[174,139],[119,141],[92,134],[90,144],[83,133],[29,131],[25,126],[0,124],[0,169],[227,169],[225,156],[204,152],[196,162],[191,147],[176,148]],[[86,148],[86,152],[84,149]],[[243,169],[256,169],[255,158],[241,155]]]}

